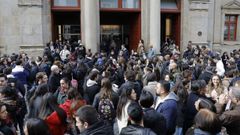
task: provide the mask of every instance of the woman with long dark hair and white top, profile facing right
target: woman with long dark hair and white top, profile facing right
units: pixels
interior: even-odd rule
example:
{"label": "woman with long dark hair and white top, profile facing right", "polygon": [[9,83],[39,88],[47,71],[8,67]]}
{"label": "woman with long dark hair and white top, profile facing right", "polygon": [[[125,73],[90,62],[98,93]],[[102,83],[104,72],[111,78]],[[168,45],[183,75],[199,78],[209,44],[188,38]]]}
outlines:
{"label": "woman with long dark hair and white top, profile facing right", "polygon": [[130,103],[136,101],[136,99],[137,99],[137,94],[134,90],[133,85],[129,85],[123,90],[117,106],[117,117],[116,117],[117,125],[114,125],[114,130],[115,130],[114,132],[116,134],[119,134],[122,128],[127,126],[128,124],[127,108],[130,105]]}

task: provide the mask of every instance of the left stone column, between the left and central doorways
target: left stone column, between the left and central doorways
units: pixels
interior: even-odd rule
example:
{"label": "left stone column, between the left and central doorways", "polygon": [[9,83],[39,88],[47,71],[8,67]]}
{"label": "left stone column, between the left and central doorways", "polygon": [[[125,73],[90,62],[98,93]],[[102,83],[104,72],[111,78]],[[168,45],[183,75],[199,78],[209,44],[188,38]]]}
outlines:
{"label": "left stone column, between the left and central doorways", "polygon": [[100,48],[99,1],[81,0],[82,43],[93,53]]}

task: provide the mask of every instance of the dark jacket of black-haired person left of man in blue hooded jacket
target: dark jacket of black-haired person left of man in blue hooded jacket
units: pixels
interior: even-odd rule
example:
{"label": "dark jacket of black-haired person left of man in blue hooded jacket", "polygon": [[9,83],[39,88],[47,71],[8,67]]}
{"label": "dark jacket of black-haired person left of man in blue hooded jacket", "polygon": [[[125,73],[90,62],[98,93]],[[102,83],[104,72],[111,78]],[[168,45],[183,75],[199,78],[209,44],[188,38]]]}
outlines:
{"label": "dark jacket of black-haired person left of man in blue hooded jacket", "polygon": [[143,123],[144,127],[150,128],[157,135],[166,134],[166,119],[153,108],[143,109]]}

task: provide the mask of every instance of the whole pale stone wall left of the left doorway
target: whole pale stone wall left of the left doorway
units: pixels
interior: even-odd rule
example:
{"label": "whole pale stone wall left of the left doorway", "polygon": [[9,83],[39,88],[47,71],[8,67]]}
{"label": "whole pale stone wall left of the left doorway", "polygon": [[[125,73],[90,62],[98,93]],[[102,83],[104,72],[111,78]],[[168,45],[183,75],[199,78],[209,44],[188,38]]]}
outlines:
{"label": "whole pale stone wall left of the left doorway", "polygon": [[50,11],[49,1],[1,0],[1,53],[19,50],[30,52],[30,55],[42,53],[43,45],[51,39]]}

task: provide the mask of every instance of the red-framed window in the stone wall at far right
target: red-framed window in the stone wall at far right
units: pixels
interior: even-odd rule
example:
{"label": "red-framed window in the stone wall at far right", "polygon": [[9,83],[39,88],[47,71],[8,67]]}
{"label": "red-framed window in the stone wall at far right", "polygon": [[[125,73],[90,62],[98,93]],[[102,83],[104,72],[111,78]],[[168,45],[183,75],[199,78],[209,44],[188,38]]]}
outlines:
{"label": "red-framed window in the stone wall at far right", "polygon": [[224,26],[224,40],[236,41],[236,34],[237,34],[237,16],[226,15]]}

